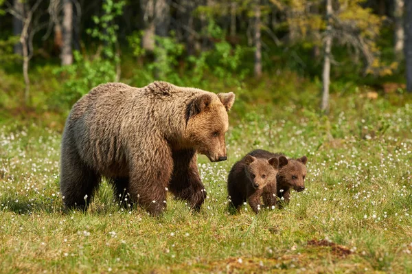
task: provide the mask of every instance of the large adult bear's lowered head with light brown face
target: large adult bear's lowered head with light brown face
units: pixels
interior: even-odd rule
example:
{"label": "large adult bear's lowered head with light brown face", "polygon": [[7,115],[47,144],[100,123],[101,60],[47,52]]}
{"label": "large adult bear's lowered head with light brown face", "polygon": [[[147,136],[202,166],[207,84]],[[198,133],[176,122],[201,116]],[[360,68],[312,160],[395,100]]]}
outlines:
{"label": "large adult bear's lowered head with light brown face", "polygon": [[210,161],[227,159],[225,133],[229,128],[227,111],[235,102],[235,94],[203,93],[187,105],[185,139]]}

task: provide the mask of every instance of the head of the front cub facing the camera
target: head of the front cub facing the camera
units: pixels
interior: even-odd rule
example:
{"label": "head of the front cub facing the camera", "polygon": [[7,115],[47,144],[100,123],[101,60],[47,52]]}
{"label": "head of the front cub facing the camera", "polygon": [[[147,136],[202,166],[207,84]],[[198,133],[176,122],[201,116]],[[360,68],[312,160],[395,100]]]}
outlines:
{"label": "head of the front cub facing the camera", "polygon": [[277,166],[279,165],[277,158],[266,160],[246,155],[244,162],[247,164],[246,176],[256,190],[262,189],[267,183],[276,181]]}

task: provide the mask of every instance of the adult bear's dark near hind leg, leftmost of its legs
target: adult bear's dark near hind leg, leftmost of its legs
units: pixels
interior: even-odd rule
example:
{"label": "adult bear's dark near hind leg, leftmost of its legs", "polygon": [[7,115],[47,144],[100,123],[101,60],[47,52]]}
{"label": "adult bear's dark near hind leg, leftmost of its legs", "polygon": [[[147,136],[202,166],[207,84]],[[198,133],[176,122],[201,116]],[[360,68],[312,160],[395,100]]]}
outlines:
{"label": "adult bear's dark near hind leg, leftmost of its legs", "polygon": [[62,150],[60,192],[69,209],[85,210],[100,183],[100,175],[82,163],[73,150]]}

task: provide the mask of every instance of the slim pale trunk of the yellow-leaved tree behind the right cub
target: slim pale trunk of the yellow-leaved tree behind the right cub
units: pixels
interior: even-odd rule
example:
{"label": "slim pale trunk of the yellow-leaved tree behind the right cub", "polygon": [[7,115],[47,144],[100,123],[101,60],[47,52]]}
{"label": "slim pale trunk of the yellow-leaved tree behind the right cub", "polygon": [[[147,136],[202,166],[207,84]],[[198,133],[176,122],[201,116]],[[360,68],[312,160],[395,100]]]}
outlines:
{"label": "slim pale trunk of the yellow-leaved tree behind the right cub", "polygon": [[322,75],[322,103],[321,111],[329,113],[329,84],[330,84],[330,50],[332,49],[332,0],[326,0],[326,31],[325,31],[325,57],[323,60],[323,75]]}

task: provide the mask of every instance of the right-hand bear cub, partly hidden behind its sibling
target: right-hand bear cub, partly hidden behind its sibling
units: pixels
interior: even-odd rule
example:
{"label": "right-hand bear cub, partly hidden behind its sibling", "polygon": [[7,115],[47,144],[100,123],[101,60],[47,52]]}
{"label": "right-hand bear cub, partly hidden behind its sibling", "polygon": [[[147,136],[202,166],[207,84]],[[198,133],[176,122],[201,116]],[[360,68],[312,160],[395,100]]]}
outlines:
{"label": "right-hand bear cub, partly hidden behind its sibling", "polygon": [[269,159],[276,157],[279,159],[279,171],[277,172],[276,192],[266,189],[266,193],[272,193],[272,195],[264,195],[264,204],[271,206],[276,203],[276,197],[273,193],[276,193],[277,197],[284,198],[286,203],[290,200],[290,190],[294,189],[297,192],[305,190],[305,178],[306,178],[306,162],[308,158],[303,156],[299,159],[288,159],[282,153],[272,153],[266,150],[253,150],[249,153],[253,157],[261,157]]}

